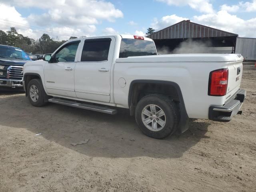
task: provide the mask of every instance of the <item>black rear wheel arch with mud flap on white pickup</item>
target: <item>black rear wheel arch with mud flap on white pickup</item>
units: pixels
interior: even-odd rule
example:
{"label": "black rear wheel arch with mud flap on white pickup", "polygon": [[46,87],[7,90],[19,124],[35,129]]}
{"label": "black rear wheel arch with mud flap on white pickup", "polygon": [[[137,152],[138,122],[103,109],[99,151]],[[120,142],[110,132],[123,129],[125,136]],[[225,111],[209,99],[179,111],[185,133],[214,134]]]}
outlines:
{"label": "black rear wheel arch with mud flap on white pickup", "polygon": [[[146,92],[144,88],[146,88]],[[149,88],[153,89],[151,90]],[[180,109],[180,123],[178,129],[182,133],[188,129],[188,114],[186,112],[180,86],[177,83],[163,80],[133,80],[130,83],[128,94],[128,106],[131,115],[134,115],[136,104],[140,100],[140,97],[142,97],[142,92],[142,95],[154,93],[168,94],[172,100],[178,102]]]}

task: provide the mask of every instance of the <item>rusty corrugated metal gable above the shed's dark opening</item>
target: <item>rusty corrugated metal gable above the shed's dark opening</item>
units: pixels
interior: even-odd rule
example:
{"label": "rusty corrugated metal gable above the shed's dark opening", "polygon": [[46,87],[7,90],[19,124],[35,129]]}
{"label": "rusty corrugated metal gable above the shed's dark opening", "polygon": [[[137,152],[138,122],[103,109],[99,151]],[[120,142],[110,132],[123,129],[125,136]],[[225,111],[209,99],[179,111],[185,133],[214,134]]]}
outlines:
{"label": "rusty corrugated metal gable above the shed's dark opening", "polygon": [[182,21],[168,28],[160,30],[148,37],[151,39],[173,39],[173,38],[205,38],[237,36],[229,32],[210,28],[190,21]]}

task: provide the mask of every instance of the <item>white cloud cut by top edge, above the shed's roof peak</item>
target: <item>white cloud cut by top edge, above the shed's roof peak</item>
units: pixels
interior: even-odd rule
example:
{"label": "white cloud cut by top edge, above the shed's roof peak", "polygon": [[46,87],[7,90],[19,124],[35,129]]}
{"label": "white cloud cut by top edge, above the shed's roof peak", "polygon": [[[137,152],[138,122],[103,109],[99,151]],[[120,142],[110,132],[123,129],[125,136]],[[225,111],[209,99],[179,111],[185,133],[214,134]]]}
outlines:
{"label": "white cloud cut by top edge, above the shed's roof peak", "polygon": [[174,6],[190,6],[191,8],[198,10],[203,13],[214,12],[210,0],[157,0],[159,2],[164,2],[168,5]]}

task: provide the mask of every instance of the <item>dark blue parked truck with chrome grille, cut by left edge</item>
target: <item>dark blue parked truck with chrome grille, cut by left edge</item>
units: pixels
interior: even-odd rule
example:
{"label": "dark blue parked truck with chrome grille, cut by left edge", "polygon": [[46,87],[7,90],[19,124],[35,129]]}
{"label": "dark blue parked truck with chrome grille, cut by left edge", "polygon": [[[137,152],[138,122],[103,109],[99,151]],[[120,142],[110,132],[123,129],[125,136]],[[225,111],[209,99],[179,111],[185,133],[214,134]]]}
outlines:
{"label": "dark blue parked truck with chrome grille, cut by left edge", "polygon": [[22,68],[30,61],[20,48],[0,45],[0,88],[22,88]]}

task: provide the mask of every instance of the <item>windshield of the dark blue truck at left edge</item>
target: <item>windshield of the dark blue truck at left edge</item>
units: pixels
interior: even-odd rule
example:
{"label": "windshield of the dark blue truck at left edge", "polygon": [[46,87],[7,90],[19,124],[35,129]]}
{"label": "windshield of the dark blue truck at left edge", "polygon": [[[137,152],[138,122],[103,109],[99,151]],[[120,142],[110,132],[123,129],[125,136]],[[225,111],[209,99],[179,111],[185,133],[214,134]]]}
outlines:
{"label": "windshield of the dark blue truck at left edge", "polygon": [[0,46],[0,57],[30,60],[28,55],[19,48]]}

